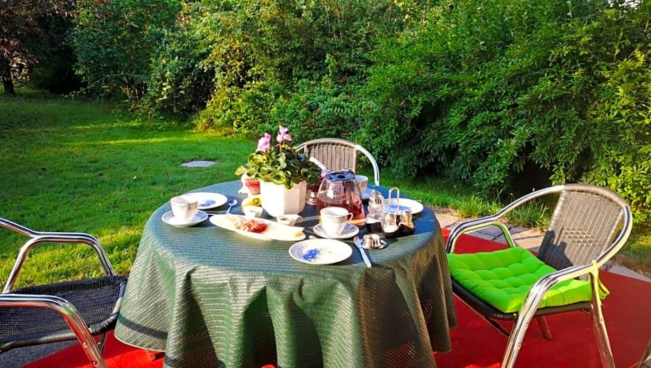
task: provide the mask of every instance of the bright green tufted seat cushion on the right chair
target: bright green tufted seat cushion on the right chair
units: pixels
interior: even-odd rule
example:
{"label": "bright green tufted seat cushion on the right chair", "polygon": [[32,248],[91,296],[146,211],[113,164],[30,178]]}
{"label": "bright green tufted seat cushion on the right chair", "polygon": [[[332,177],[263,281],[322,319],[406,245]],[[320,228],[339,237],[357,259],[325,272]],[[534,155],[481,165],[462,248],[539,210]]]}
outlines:
{"label": "bright green tufted seat cushion on the right chair", "polygon": [[[541,277],[556,271],[520,247],[495,252],[447,254],[447,261],[452,278],[504,313],[518,312],[531,286]],[[539,308],[589,301],[591,296],[589,281],[571,279],[553,286]]]}

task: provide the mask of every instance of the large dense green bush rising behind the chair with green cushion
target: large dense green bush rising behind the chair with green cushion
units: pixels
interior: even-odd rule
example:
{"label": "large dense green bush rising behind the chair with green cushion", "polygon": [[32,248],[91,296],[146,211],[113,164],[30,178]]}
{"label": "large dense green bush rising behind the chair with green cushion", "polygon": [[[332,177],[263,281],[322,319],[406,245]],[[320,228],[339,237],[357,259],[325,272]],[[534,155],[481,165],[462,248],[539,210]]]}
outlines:
{"label": "large dense green bush rising behind the chair with green cushion", "polygon": [[646,220],[650,18],[648,2],[442,3],[377,49],[357,139],[394,170],[483,193],[551,170],[614,189]]}

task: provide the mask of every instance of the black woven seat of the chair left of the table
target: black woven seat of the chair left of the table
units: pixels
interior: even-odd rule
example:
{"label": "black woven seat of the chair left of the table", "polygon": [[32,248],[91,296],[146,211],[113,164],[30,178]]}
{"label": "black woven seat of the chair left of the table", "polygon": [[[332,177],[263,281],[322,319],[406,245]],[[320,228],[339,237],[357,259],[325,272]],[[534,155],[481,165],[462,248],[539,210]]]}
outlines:
{"label": "black woven seat of the chair left of the table", "polygon": [[[92,335],[115,328],[127,278],[97,277],[12,290],[12,294],[55,295],[78,309]],[[1,308],[0,351],[35,344],[76,340],[65,319],[46,308]]]}

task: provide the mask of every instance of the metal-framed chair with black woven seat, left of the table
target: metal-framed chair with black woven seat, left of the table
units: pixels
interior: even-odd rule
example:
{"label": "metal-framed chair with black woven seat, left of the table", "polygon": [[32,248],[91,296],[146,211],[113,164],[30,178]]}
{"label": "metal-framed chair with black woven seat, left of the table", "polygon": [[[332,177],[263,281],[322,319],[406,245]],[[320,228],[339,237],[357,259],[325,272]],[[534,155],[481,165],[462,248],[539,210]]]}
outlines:
{"label": "metal-framed chair with black woven seat, left of the table", "polygon": [[[33,231],[3,218],[0,226],[30,238],[0,294],[0,352],[76,339],[93,367],[106,367],[104,340],[115,328],[127,279],[115,274],[99,241],[89,234]],[[98,254],[105,276],[12,290],[30,249],[45,243],[89,245]],[[100,335],[98,343],[96,335]]]}

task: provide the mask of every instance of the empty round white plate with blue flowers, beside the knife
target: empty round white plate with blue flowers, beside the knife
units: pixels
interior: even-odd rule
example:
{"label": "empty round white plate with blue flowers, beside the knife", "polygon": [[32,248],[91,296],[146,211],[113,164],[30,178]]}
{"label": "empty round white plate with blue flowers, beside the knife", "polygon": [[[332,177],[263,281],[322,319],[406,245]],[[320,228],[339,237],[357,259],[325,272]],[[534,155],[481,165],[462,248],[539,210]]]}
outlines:
{"label": "empty round white plate with blue flowers, beside the knife", "polygon": [[289,255],[296,261],[310,265],[330,265],[348,259],[353,247],[332,239],[310,239],[289,247]]}

